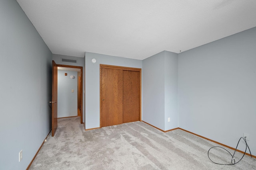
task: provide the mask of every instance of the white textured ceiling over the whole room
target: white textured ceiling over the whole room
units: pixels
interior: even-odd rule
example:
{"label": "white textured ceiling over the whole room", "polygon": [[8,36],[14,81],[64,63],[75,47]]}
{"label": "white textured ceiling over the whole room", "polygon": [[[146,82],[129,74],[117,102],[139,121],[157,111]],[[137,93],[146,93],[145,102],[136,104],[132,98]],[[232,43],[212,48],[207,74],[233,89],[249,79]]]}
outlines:
{"label": "white textured ceiling over the whole room", "polygon": [[256,0],[17,0],[54,54],[145,59],[256,27]]}

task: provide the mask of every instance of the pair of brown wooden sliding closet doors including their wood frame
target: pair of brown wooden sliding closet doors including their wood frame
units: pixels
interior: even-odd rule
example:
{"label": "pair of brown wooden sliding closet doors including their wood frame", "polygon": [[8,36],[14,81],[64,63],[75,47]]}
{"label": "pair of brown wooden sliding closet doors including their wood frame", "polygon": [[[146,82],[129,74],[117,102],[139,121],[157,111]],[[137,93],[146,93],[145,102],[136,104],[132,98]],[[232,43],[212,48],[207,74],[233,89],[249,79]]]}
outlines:
{"label": "pair of brown wooden sliding closet doors including their wood frame", "polygon": [[[122,83],[122,86],[118,86],[118,88],[114,88],[114,86],[111,86],[110,84],[105,84],[105,80],[106,79],[108,79],[108,80],[111,80],[110,78],[111,78],[111,76],[110,75],[107,75],[107,73],[105,72],[105,73],[103,73],[103,71],[102,70],[104,70],[104,69],[112,69],[112,70],[116,70],[116,72],[119,72],[119,74],[122,72],[122,78],[121,78],[121,76],[118,76],[119,78],[118,78],[118,84],[120,85],[121,83]],[[119,70],[119,71],[118,71]],[[129,83],[128,83],[128,85],[127,85],[127,87],[125,88],[125,91],[127,92],[127,91],[129,91],[129,90],[133,90],[133,91],[131,91],[131,92],[129,92],[129,94],[128,94],[128,97],[126,97],[125,98],[125,100],[126,100],[126,102],[129,102],[128,104],[125,104],[125,105],[127,105],[127,108],[126,109],[123,109],[123,106],[124,106],[124,84],[126,84],[126,82],[123,82],[123,80],[124,80],[124,77],[123,77],[123,72],[124,71],[132,71],[132,73],[131,74],[127,74],[126,76],[125,76],[125,80],[127,80]],[[136,73],[134,73],[134,72],[136,72]],[[106,75],[105,75],[106,74]],[[136,78],[135,78],[135,81],[133,82],[133,81],[131,81],[130,79],[131,79],[131,76],[134,76],[133,74],[135,74],[136,76]],[[122,81],[121,81],[122,80]],[[109,82],[109,83],[111,83],[111,82],[113,82],[112,80]],[[134,84],[135,84],[135,82],[136,82],[136,87],[137,88],[134,88],[133,86],[134,86]],[[104,84],[104,85],[103,85]],[[116,105],[116,108],[114,108],[114,107],[110,107],[109,105],[108,105],[108,102],[110,102],[109,100],[108,101],[106,101],[106,90],[107,90],[107,85],[108,85],[108,89],[110,88],[110,90],[111,89],[118,89],[118,92],[119,92],[119,94],[121,94],[120,93],[120,91],[122,90],[122,92],[123,92],[123,96],[122,96],[122,98],[121,98],[121,95],[120,96],[118,96],[117,98],[119,98],[119,101],[122,101],[122,103],[121,102],[119,102],[118,103],[118,105]],[[125,85],[126,86],[126,85]],[[114,92],[114,91],[113,91]],[[112,92],[112,93],[113,93]],[[138,95],[136,96],[136,97],[132,97],[132,99],[131,99],[131,95],[133,94],[133,93],[136,93],[137,94],[137,92],[138,92]],[[114,93],[113,93],[114,94]],[[110,95],[111,95],[111,93],[110,93]],[[130,95],[130,96],[129,96]],[[130,101],[133,101],[134,99],[138,99],[137,100],[137,102],[136,102],[136,104],[133,104],[133,103],[130,103]],[[108,106],[107,106],[108,105]],[[134,107],[134,108],[133,108]],[[120,110],[121,111],[121,109],[122,109],[122,115],[118,115],[119,117],[121,117],[122,116],[122,123],[124,123],[124,121],[125,122],[131,122],[131,121],[142,121],[142,119],[141,119],[141,68],[130,68],[130,67],[122,67],[122,66],[112,66],[112,65],[105,65],[105,64],[100,64],[100,127],[105,127],[105,126],[108,126],[108,125],[106,125],[106,119],[107,119],[107,121],[112,121],[112,123],[114,122],[114,121],[116,121],[116,120],[110,120],[110,119],[108,119],[109,118],[109,116],[108,117],[106,117],[107,115],[106,115],[106,110],[112,110],[112,109],[117,109],[117,110]],[[133,110],[134,109],[134,110]],[[136,110],[136,111],[135,111]],[[137,110],[138,110],[138,115],[137,115]],[[124,114],[123,114],[123,111],[126,111],[127,113],[128,113],[128,115],[126,116],[126,118],[125,119],[123,119],[123,117],[124,117]],[[133,113],[134,115],[132,115],[131,113]],[[134,118],[134,117],[136,117],[136,119]],[[138,118],[137,118],[138,117]],[[104,120],[103,120],[104,119]],[[104,121],[104,122],[103,122]],[[120,119],[118,118],[118,122],[120,121]],[[119,122],[118,124],[121,124],[121,122]],[[112,125],[112,124],[111,124]],[[116,124],[117,125],[117,124]]]}

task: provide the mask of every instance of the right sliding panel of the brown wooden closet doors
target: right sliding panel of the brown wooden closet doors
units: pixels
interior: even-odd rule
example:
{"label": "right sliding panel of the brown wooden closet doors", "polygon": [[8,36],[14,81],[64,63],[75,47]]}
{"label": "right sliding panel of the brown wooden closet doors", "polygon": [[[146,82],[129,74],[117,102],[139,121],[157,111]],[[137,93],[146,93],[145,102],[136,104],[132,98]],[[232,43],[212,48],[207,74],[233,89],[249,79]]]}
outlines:
{"label": "right sliding panel of the brown wooden closet doors", "polygon": [[140,120],[140,72],[123,70],[123,123]]}

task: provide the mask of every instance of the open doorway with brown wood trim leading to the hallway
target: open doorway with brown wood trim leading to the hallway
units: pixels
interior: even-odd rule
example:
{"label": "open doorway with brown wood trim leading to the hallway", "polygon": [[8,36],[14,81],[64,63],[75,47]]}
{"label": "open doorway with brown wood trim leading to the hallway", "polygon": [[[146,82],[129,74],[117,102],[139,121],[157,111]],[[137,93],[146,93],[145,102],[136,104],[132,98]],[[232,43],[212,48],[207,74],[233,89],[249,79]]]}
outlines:
{"label": "open doorway with brown wood trim leading to the hallway", "polygon": [[[68,83],[64,83],[65,86],[72,86],[70,85],[70,82],[72,82],[73,87],[68,89],[68,92],[70,96],[66,94],[66,96],[63,96],[63,98],[58,99],[58,107],[61,105],[61,100],[66,98],[65,100],[68,100],[68,103],[76,103],[76,106],[72,106],[73,111],[69,111],[68,116],[60,115],[61,117],[72,117],[72,116],[80,116],[80,123],[83,123],[83,68],[82,66],[70,66],[70,65],[62,65],[57,64],[58,67],[58,74],[61,72],[62,76],[66,77],[66,80],[68,80]],[[58,75],[58,78],[60,78],[60,75]],[[76,84],[76,87],[74,87],[74,83]],[[59,80],[58,80],[59,84]],[[65,88],[63,86],[63,88]],[[69,88],[69,87],[68,87]],[[59,91],[59,90],[58,90]],[[76,93],[77,95],[74,95]],[[59,96],[59,94],[58,94]],[[74,98],[75,97],[75,98]],[[64,104],[62,107],[64,109],[68,110],[71,107],[66,107]],[[76,107],[76,108],[74,108]],[[74,115],[74,109],[76,109],[76,113]],[[59,112],[59,111],[58,111]],[[71,113],[73,112],[73,113]],[[58,114],[59,117],[59,114]]]}

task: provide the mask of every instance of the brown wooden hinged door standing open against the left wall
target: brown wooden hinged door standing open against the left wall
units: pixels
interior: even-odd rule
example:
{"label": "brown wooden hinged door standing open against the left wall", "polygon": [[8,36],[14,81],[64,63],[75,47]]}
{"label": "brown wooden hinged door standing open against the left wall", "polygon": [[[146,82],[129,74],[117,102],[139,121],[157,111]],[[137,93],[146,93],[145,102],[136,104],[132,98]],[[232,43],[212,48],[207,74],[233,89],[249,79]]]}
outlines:
{"label": "brown wooden hinged door standing open against the left wall", "polygon": [[52,136],[58,127],[58,112],[57,112],[57,97],[58,97],[58,67],[52,61]]}

